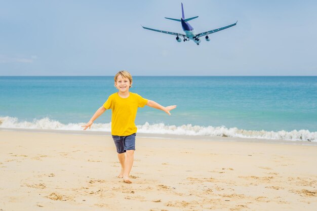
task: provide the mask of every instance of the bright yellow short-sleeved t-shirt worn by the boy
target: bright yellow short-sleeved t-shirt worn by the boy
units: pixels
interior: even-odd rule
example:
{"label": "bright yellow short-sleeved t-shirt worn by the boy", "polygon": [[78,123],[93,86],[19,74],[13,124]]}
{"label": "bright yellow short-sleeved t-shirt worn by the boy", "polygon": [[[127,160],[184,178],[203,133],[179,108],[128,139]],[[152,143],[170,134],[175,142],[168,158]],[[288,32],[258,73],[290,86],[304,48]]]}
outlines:
{"label": "bright yellow short-sleeved t-shirt worn by the boy", "polygon": [[110,95],[103,107],[112,110],[111,135],[129,136],[136,133],[137,127],[134,121],[138,107],[144,107],[147,101],[147,99],[132,92],[127,98],[120,97],[118,93]]}

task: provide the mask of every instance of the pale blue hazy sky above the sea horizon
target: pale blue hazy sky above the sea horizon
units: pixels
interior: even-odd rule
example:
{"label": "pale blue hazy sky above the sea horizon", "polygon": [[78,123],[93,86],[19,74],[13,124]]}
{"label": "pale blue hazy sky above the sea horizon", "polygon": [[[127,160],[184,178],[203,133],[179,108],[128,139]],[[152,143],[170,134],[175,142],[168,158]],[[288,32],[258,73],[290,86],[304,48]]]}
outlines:
{"label": "pale blue hazy sky above the sea horizon", "polygon": [[[164,17],[199,16],[193,41]],[[315,1],[3,1],[0,76],[317,75]]]}

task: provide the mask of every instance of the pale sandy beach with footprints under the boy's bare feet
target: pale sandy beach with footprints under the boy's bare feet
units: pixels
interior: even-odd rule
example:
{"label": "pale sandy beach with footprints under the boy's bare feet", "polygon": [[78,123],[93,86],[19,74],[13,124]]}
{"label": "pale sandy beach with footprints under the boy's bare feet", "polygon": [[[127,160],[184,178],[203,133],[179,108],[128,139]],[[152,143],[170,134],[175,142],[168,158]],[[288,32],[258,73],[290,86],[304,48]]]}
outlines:
{"label": "pale sandy beach with footprints under the boy's bare feet", "polygon": [[316,210],[317,146],[224,139],[137,136],[126,184],[109,135],[0,131],[0,210]]}

